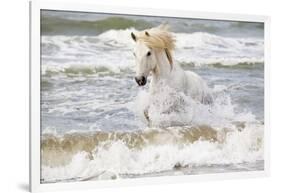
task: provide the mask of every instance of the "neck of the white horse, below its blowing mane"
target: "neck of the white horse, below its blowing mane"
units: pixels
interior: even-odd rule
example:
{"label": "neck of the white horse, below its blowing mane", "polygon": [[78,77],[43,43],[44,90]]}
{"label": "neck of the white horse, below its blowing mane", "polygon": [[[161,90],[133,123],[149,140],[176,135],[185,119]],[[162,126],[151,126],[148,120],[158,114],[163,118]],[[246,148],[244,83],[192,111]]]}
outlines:
{"label": "neck of the white horse, below its blowing mane", "polygon": [[171,64],[166,56],[164,50],[157,52],[156,54],[157,64],[156,68],[152,72],[152,81],[154,83],[161,79],[168,78],[171,73]]}

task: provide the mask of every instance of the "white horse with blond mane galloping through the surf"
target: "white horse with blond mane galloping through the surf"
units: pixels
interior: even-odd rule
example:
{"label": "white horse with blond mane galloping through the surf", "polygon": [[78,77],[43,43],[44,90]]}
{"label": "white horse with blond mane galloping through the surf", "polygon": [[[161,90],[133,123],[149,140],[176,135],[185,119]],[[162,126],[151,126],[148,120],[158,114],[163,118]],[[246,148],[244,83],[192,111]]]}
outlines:
{"label": "white horse with blond mane galloping through the surf", "polygon": [[[147,77],[152,74],[149,92],[153,93],[161,80],[169,87],[183,91],[186,95],[201,103],[211,103],[212,95],[205,81],[196,73],[184,71],[174,62],[172,51],[175,49],[175,39],[168,31],[167,25],[160,25],[137,33],[131,33],[136,42],[134,56],[136,61],[135,80],[139,86],[144,86]],[[145,112],[148,119],[148,115]]]}

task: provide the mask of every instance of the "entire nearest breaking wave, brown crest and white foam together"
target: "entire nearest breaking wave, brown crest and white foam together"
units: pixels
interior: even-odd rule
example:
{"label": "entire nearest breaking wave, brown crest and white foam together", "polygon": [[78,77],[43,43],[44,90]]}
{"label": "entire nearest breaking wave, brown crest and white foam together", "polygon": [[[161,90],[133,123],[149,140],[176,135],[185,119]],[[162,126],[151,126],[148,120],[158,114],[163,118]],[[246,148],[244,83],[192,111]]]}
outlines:
{"label": "entire nearest breaking wave, brown crest and white foam together", "polygon": [[[263,160],[263,126],[240,130],[181,127],[139,132],[44,135],[42,181],[102,179],[169,171],[180,167]],[[239,141],[239,143],[237,143]],[[200,153],[198,153],[200,152]],[[112,175],[108,176],[112,179]]]}

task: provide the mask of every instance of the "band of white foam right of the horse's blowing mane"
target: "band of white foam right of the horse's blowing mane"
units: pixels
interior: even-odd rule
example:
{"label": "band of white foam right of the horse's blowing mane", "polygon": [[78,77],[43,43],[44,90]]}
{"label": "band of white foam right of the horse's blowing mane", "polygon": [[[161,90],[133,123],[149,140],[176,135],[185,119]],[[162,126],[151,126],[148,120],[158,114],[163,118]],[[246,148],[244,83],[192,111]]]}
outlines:
{"label": "band of white foam right of the horse's blowing mane", "polygon": [[176,53],[180,62],[208,65],[262,63],[264,42],[257,38],[228,38],[208,33],[177,34]]}

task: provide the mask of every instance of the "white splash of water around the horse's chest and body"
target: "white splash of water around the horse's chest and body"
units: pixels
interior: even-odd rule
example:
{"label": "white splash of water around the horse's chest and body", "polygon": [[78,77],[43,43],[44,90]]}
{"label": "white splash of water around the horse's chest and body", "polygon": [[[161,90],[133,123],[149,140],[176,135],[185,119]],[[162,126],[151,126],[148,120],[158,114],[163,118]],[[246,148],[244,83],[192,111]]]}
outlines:
{"label": "white splash of water around the horse's chest and body", "polygon": [[[144,111],[149,114],[150,124],[167,127],[171,125],[209,125],[211,127],[232,128],[233,122],[256,121],[250,112],[237,111],[231,98],[224,88],[214,88],[214,102],[202,104],[184,93],[159,82],[158,89],[153,94],[144,90],[136,97],[133,111],[143,120]],[[168,121],[167,121],[168,120]]]}

